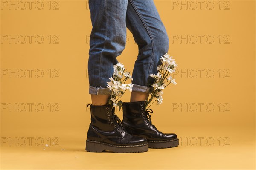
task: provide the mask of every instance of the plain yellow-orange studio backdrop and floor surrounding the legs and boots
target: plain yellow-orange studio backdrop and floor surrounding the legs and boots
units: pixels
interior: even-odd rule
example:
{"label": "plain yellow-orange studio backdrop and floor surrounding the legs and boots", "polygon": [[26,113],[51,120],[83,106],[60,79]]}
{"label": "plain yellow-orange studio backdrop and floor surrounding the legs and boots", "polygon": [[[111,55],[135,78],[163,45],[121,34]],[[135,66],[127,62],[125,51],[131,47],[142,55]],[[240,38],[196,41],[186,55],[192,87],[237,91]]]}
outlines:
{"label": "plain yellow-orange studio backdrop and floor surrounding the legs and boots", "polygon": [[[9,9],[10,2],[17,9]],[[164,90],[163,104],[152,105],[151,118],[159,130],[177,133],[180,146],[137,154],[85,151],[91,102],[88,1],[33,1],[31,9],[20,2],[0,1],[1,169],[256,168],[255,0],[203,1],[201,9],[197,1],[154,0],[179,72],[177,85]],[[186,35],[188,42],[180,41]],[[127,37],[118,60],[132,71],[137,45],[129,31]],[[17,78],[9,74],[15,69]],[[122,101],[129,101],[128,92]],[[17,146],[9,143],[15,138]]]}

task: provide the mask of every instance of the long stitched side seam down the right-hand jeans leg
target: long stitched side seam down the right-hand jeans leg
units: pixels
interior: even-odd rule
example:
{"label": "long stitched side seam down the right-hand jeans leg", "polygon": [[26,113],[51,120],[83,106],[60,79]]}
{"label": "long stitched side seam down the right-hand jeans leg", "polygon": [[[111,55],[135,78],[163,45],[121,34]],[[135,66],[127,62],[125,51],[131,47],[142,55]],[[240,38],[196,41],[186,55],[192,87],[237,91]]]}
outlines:
{"label": "long stitched side seam down the right-hand jeans leg", "polygon": [[149,37],[150,37],[150,39],[151,39],[151,42],[152,42],[152,56],[151,56],[151,61],[150,61],[149,70],[148,70],[148,80],[147,80],[147,82],[145,82],[145,85],[144,85],[144,86],[147,86],[147,85],[148,85],[148,81],[149,81],[149,74],[150,74],[151,69],[152,69],[152,63],[153,63],[153,61],[154,61],[154,51],[155,51],[155,49],[154,49],[154,40],[153,40],[153,37],[152,37],[152,35],[151,35],[151,32],[150,32],[149,29],[148,29],[147,24],[146,24],[145,21],[143,20],[142,15],[140,14],[139,10],[138,10],[138,9],[136,8],[136,6],[134,5],[134,2],[133,2],[132,0],[129,0],[129,1],[131,2],[131,4],[132,4],[132,6],[134,7],[134,10],[137,12],[138,16],[140,17],[140,20],[142,21],[142,23],[143,23],[145,29],[147,30],[148,35],[149,35]]}

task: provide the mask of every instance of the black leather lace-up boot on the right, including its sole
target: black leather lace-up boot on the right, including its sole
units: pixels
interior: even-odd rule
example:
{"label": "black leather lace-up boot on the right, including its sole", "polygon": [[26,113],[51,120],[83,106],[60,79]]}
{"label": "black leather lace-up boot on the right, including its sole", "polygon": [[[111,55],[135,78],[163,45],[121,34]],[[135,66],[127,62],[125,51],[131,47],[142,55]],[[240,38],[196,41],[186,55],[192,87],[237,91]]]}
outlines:
{"label": "black leather lace-up boot on the right, including its sole", "polygon": [[152,124],[151,109],[145,111],[145,102],[123,102],[123,127],[131,135],[147,139],[149,148],[168,148],[179,145],[174,133],[162,133]]}

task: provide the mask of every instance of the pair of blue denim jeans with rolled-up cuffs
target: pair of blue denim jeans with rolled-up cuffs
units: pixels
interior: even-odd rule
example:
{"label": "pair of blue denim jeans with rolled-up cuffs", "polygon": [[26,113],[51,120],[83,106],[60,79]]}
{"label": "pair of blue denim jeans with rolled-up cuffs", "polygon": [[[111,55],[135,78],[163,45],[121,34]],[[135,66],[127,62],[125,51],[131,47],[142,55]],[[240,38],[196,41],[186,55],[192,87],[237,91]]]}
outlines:
{"label": "pair of blue denim jeans with rolled-up cuffs", "polygon": [[169,38],[153,0],[89,0],[92,21],[88,61],[89,94],[108,95],[108,78],[126,44],[126,28],[138,45],[132,72],[134,92],[152,91],[160,57],[168,52]]}

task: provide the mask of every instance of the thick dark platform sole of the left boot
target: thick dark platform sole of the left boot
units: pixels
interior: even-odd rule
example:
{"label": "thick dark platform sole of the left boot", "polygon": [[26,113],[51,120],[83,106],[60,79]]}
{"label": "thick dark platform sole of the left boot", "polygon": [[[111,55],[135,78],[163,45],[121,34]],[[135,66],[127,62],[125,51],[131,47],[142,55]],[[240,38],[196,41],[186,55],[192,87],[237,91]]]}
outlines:
{"label": "thick dark platform sole of the left boot", "polygon": [[148,143],[138,145],[113,145],[99,141],[86,140],[86,148],[88,152],[103,152],[109,150],[115,153],[137,153],[148,151]]}

